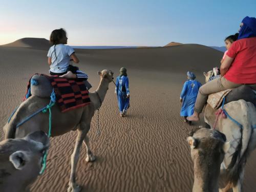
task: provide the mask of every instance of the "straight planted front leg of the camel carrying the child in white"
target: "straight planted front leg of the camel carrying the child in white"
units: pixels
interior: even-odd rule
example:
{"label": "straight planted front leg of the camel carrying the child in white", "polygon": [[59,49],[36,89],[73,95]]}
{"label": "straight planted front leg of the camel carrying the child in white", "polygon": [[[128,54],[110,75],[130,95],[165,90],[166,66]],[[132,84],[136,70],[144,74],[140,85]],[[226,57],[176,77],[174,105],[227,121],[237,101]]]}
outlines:
{"label": "straight planted front leg of the camel carrying the child in white", "polygon": [[69,192],[78,192],[81,190],[81,186],[76,184],[76,165],[79,159],[82,141],[86,137],[87,132],[88,130],[78,130],[75,148],[73,154],[71,155],[71,174],[68,188]]}

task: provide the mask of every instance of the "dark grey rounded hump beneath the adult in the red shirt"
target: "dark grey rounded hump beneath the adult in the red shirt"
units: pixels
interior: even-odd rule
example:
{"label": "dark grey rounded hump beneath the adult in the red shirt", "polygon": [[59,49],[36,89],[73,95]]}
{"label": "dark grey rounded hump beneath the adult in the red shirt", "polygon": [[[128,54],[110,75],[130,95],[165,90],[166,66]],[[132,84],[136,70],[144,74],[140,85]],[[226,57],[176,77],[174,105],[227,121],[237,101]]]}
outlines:
{"label": "dark grey rounded hump beneath the adult in the red shirt", "polygon": [[226,96],[226,102],[229,103],[231,101],[237,101],[239,99],[243,99],[247,102],[251,102],[253,104],[256,104],[256,95],[253,92],[253,90],[246,85],[240,86],[236,89],[233,89],[227,96]]}

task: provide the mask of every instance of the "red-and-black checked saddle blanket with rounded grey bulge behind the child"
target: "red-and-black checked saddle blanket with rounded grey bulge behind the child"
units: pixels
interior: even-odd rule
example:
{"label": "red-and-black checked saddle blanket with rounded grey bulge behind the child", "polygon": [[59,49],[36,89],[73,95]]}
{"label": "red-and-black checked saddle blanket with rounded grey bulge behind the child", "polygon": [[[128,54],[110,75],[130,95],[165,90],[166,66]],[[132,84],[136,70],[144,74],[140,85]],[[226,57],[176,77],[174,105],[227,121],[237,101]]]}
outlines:
{"label": "red-and-black checked saddle blanket with rounded grey bulge behind the child", "polygon": [[27,86],[26,100],[30,95],[50,98],[55,93],[56,103],[61,112],[66,112],[91,103],[89,92],[83,81],[35,74]]}

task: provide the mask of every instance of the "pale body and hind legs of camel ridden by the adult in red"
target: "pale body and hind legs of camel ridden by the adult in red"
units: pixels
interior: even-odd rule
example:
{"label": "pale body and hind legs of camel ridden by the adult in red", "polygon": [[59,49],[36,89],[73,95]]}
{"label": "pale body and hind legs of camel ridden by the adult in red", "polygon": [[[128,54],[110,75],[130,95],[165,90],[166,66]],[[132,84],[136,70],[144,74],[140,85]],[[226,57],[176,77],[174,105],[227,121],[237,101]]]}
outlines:
{"label": "pale body and hind legs of camel ridden by the adult in red", "polygon": [[[231,147],[221,164],[221,170],[227,175],[228,182],[223,191],[231,187],[233,191],[242,191],[246,159],[256,147],[256,108],[252,102],[240,99],[225,104],[224,110],[240,125],[230,118],[219,118],[217,122],[216,129],[225,134],[227,141],[231,142]],[[216,110],[206,104],[204,118],[211,127],[216,121],[216,116],[213,115],[215,112]]]}

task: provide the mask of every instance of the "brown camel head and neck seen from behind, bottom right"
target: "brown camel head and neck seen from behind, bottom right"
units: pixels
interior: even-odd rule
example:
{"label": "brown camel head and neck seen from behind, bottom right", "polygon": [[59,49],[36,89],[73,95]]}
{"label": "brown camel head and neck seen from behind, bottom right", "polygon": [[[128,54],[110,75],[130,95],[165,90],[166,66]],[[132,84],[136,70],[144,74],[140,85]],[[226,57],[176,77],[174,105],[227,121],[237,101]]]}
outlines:
{"label": "brown camel head and neck seen from behind, bottom right", "polygon": [[229,148],[226,136],[206,128],[191,132],[187,137],[194,162],[193,191],[219,191],[218,179],[224,154]]}

